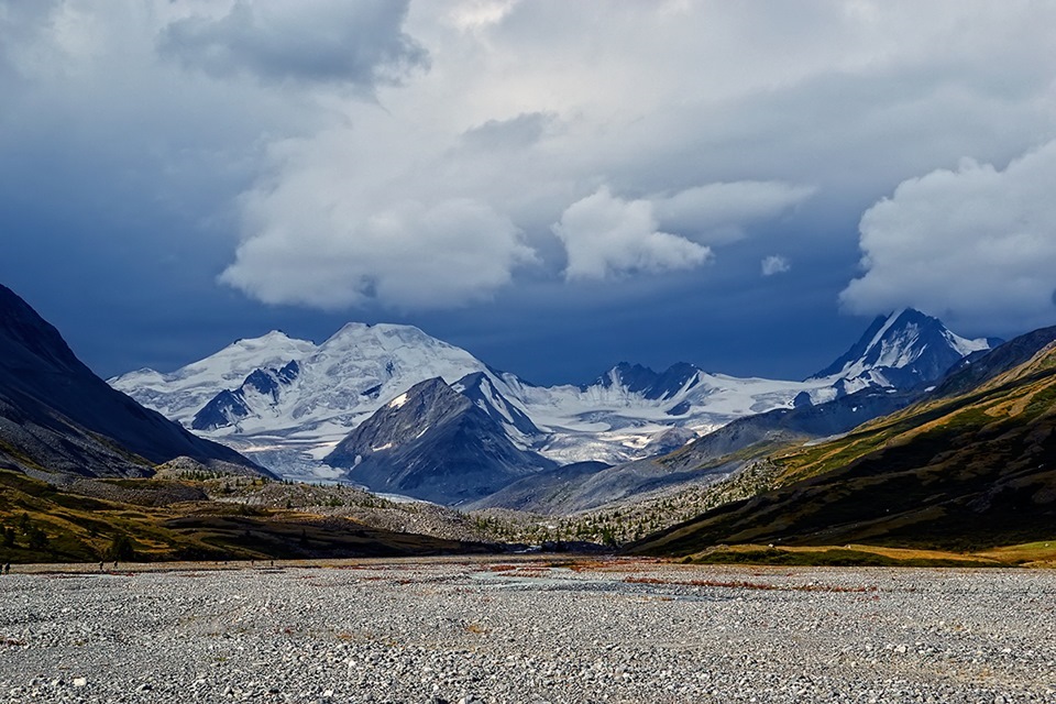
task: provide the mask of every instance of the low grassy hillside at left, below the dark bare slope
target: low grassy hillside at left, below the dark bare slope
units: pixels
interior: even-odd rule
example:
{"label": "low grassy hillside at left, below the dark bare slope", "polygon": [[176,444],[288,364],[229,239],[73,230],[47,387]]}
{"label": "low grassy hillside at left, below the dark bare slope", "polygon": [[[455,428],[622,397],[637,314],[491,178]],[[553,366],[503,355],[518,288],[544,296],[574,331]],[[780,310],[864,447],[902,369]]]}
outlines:
{"label": "low grassy hillside at left, below the dark bare slope", "polygon": [[[483,552],[481,543],[253,505],[266,479],[81,480],[63,487],[0,470],[0,562],[253,560]],[[354,490],[348,490],[353,492]],[[331,492],[328,501],[341,501]],[[274,493],[274,492],[273,492]],[[231,494],[223,501],[224,494]],[[220,498],[218,498],[220,495]],[[337,497],[337,498],[336,498]]]}

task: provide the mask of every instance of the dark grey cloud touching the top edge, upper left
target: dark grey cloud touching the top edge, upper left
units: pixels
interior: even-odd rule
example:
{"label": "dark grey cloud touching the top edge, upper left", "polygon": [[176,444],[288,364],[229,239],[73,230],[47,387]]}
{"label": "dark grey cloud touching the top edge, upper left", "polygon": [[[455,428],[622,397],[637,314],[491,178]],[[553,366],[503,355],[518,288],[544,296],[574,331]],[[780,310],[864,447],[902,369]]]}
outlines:
{"label": "dark grey cloud touching the top edge, upper left", "polygon": [[408,0],[235,2],[221,18],[166,26],[158,50],[213,76],[268,82],[348,84],[367,92],[426,68],[429,55],[403,31]]}

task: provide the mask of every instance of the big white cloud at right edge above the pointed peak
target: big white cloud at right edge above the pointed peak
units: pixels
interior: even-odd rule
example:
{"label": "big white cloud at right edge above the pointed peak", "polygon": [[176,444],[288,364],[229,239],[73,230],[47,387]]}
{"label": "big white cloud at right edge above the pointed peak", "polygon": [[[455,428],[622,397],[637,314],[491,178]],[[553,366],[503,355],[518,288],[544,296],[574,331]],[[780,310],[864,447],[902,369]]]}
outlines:
{"label": "big white cloud at right edge above the pointed peak", "polygon": [[1056,142],[1003,170],[964,160],[903,182],[861,218],[865,274],[840,295],[854,312],[915,306],[971,330],[1056,317]]}

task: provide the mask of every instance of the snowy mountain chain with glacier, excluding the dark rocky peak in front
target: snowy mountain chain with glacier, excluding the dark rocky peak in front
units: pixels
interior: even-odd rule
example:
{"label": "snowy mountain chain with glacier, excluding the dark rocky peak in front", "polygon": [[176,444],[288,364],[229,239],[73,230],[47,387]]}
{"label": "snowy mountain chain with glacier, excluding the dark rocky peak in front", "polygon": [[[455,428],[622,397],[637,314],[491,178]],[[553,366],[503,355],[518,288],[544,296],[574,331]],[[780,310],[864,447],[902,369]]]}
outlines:
{"label": "snowy mountain chain with glacier, excluding the dark rocky peak in front", "polygon": [[271,332],[172,374],[142,370],[110,382],[286,476],[337,479],[342,472],[321,460],[386,404],[431,378],[470,399],[519,450],[562,464],[616,464],[745,416],[860,388],[915,386],[989,346],[904,310],[879,318],[850,351],[802,382],[738,378],[685,363],[660,373],[620,363],[591,384],[542,387],[418,328],[349,323],[321,344]]}

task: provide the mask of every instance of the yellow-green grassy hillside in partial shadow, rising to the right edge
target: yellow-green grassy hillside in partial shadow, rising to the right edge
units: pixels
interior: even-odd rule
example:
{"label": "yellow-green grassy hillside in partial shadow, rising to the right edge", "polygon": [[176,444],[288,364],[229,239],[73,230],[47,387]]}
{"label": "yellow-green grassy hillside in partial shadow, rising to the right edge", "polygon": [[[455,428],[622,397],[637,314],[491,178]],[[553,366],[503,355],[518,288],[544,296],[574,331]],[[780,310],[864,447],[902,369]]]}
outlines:
{"label": "yellow-green grassy hillside in partial shadow, rising to the right edge", "polygon": [[967,393],[773,453],[768,492],[631,549],[868,543],[961,552],[1056,537],[1056,349]]}

